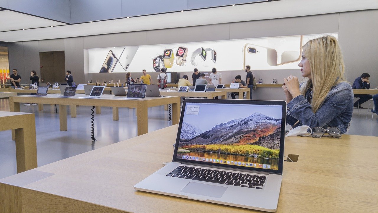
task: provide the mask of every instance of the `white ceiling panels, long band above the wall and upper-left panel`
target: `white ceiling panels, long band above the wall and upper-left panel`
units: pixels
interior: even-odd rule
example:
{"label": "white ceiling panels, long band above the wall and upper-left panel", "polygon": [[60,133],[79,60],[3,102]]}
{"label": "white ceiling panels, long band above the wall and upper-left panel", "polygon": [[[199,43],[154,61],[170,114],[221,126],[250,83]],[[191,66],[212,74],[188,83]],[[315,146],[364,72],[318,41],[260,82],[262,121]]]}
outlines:
{"label": "white ceiling panels, long band above the wall and upper-left panel", "polygon": [[[15,29],[15,27],[19,27],[19,29],[32,28],[32,26],[35,26],[38,22],[42,24],[43,21],[46,21],[44,26],[47,27],[0,32],[0,41],[17,42],[69,38],[216,23],[309,16],[366,9],[378,9],[378,0],[281,0],[72,25],[62,25],[63,23],[61,22],[55,22],[53,24],[52,22],[54,21],[51,20],[22,14],[27,17],[18,20],[17,23],[19,25],[14,25],[14,27],[8,26],[11,25],[11,23],[2,21],[5,24],[3,26],[2,23],[0,31],[2,31],[2,29]],[[4,12],[5,11],[0,11],[0,14]],[[7,19],[9,20],[9,18]],[[40,20],[36,21],[34,19]],[[0,17],[0,20],[3,20],[2,17]],[[56,25],[62,26],[49,27]]]}

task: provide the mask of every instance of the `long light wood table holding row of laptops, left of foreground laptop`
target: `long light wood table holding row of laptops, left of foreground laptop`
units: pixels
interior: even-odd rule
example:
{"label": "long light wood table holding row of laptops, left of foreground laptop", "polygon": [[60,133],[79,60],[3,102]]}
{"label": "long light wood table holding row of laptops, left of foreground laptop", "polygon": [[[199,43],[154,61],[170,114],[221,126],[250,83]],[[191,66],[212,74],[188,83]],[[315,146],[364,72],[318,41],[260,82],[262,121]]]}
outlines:
{"label": "long light wood table holding row of laptops, left of foreground laptop", "polygon": [[[166,96],[166,97],[146,97],[138,100],[121,100],[119,96],[102,95],[97,99],[82,99],[85,94],[77,94],[72,98],[56,97],[55,94],[48,94],[43,97],[30,96],[11,96],[9,97],[10,111],[19,112],[19,103],[45,103],[59,105],[59,121],[60,131],[67,131],[67,105],[79,106],[98,106],[98,107],[113,107],[113,120],[118,121],[118,108],[128,107],[136,108],[138,135],[148,132],[148,111],[149,107],[156,107],[160,105],[172,104],[172,124],[178,124],[180,117],[180,97]],[[90,113],[88,113],[90,114]]]}

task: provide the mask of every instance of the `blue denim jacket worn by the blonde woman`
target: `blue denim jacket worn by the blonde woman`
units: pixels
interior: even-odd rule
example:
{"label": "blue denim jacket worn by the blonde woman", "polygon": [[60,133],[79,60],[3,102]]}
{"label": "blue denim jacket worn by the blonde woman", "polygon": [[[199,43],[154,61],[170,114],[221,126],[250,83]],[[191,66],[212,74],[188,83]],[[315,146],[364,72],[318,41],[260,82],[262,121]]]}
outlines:
{"label": "blue denim jacket worn by the blonde woman", "polygon": [[287,124],[308,125],[311,128],[338,127],[341,133],[348,131],[353,112],[353,90],[347,82],[341,82],[331,88],[321,107],[313,113],[309,89],[306,97],[300,95],[287,104]]}

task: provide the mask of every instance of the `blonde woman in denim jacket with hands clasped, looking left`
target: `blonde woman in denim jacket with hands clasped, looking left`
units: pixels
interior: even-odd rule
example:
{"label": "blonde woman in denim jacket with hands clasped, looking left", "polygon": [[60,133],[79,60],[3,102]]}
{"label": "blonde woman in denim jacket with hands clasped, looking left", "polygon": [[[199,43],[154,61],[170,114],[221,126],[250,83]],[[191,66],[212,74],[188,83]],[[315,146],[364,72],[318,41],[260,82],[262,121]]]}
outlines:
{"label": "blonde woman in denim jacket with hands clasped, looking left", "polygon": [[338,41],[333,36],[312,39],[303,46],[301,67],[305,82],[284,78],[287,123],[295,127],[338,127],[348,130],[353,110],[353,90],[345,81],[344,61]]}

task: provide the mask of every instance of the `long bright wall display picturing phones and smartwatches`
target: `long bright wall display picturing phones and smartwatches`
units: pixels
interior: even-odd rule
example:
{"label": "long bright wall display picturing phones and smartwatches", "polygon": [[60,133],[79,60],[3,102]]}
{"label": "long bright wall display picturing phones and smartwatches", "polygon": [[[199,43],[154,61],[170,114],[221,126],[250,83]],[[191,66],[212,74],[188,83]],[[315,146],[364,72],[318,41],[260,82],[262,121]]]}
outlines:
{"label": "long bright wall display picturing phones and smartwatches", "polygon": [[[337,33],[327,33],[337,37]],[[301,46],[321,35],[89,49],[89,72],[296,69]],[[105,61],[104,61],[105,60]],[[102,61],[104,61],[102,63]],[[101,64],[102,63],[102,64]]]}

